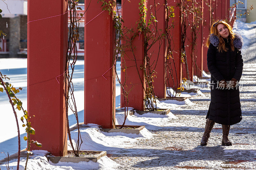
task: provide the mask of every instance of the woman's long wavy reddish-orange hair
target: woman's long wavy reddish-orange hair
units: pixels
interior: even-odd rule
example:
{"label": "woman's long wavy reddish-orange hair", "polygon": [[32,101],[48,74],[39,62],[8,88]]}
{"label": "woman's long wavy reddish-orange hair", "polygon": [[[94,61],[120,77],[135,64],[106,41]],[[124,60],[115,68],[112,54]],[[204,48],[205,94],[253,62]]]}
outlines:
{"label": "woman's long wavy reddish-orange hair", "polygon": [[[215,26],[213,26],[215,24]],[[206,46],[209,48],[209,45],[210,45],[210,36],[211,34],[213,33],[214,35],[216,35],[219,40],[220,40],[220,43],[219,43],[219,46],[218,46],[218,51],[219,52],[223,52],[223,51],[228,51],[228,48],[226,48],[225,46],[225,41],[224,39],[220,36],[220,33],[219,31],[217,30],[217,26],[219,24],[223,24],[225,25],[227,28],[228,28],[228,32],[229,32],[229,35],[228,35],[228,38],[230,38],[230,47],[231,47],[231,50],[234,51],[235,50],[235,47],[234,47],[234,44],[233,44],[233,41],[235,39],[235,33],[232,31],[232,27],[224,20],[222,21],[215,21],[212,26],[211,26],[211,33],[209,34],[207,40],[206,40]]]}

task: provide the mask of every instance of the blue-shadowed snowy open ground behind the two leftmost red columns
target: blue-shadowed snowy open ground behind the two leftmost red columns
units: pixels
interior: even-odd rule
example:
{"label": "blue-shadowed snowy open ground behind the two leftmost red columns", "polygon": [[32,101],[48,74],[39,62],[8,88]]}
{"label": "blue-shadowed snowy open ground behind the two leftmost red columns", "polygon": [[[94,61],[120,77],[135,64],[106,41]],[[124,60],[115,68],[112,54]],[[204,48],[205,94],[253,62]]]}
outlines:
{"label": "blue-shadowed snowy open ground behind the two leftmost red columns", "polygon": [[[27,109],[27,59],[8,58],[0,59],[0,70],[7,77],[11,78],[9,81],[14,87],[22,87],[23,89],[16,94],[16,96],[22,101],[22,106]],[[80,115],[79,118],[83,120],[84,115],[84,61],[78,60],[76,63],[76,70],[73,76],[73,82],[75,84],[76,91],[74,92],[75,98],[82,100],[76,100],[77,110]],[[4,115],[4,119],[0,119],[0,152],[9,152],[9,154],[16,153],[18,151],[18,138],[17,138],[17,126],[12,112],[12,107],[9,103],[8,97],[5,93],[0,92],[0,115]],[[17,111],[18,120],[23,115],[21,111]],[[70,125],[73,126],[76,123],[75,117],[69,114]],[[6,121],[8,120],[8,121]],[[19,122],[21,133],[21,148],[26,148],[27,142],[22,138],[26,136],[25,128],[22,127]],[[5,157],[0,153],[0,159]]]}

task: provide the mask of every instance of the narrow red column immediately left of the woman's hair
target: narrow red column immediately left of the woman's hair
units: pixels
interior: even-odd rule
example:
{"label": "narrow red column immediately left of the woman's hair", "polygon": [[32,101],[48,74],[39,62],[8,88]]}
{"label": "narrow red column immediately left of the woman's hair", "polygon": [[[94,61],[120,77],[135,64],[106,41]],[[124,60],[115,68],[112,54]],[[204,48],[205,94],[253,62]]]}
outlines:
{"label": "narrow red column immediately left of the woman's hair", "polygon": [[208,67],[207,67],[207,51],[208,48],[205,46],[206,45],[206,40],[208,35],[210,34],[210,28],[211,28],[211,13],[210,13],[210,0],[203,1],[204,2],[204,11],[203,11],[203,30],[202,30],[202,35],[203,35],[203,70],[205,72],[209,72]]}

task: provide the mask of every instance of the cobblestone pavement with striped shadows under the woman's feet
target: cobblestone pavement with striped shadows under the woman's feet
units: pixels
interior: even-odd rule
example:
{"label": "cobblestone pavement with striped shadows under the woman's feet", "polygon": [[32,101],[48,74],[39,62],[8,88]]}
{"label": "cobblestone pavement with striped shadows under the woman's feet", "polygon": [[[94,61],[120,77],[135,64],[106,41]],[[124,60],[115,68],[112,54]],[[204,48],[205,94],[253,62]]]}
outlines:
{"label": "cobblestone pavement with striped shadows under the woman's feet", "polygon": [[210,89],[204,89],[204,97],[190,98],[194,105],[171,110],[178,119],[149,130],[154,137],[140,139],[132,148],[118,148],[115,154],[108,151],[109,157],[120,164],[117,169],[256,169],[256,64],[244,64],[241,81],[243,120],[231,126],[232,146],[221,145],[219,124],[214,125],[208,145],[200,146],[210,104]]}

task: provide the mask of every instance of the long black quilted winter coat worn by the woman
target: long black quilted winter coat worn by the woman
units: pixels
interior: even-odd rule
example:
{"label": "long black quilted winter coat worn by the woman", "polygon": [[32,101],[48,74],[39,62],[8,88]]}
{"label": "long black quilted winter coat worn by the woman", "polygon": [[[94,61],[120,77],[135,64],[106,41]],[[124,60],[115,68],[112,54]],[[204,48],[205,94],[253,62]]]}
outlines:
{"label": "long black quilted winter coat worn by the woman", "polygon": [[233,41],[235,51],[232,51],[230,39],[224,39],[227,52],[218,52],[219,38],[210,36],[210,46],[207,52],[207,67],[211,73],[211,103],[206,118],[224,125],[233,125],[242,120],[239,87],[236,89],[217,89],[217,81],[240,80],[243,71],[241,48],[243,38],[236,33]]}

